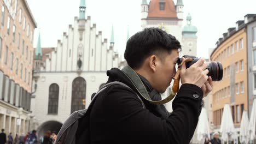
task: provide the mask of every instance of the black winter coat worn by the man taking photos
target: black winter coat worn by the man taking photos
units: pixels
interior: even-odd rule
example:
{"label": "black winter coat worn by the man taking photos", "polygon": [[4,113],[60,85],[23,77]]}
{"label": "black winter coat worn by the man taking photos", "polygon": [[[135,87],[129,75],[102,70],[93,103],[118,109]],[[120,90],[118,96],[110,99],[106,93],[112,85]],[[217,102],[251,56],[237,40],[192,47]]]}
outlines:
{"label": "black winter coat worn by the man taking photos", "polygon": [[[107,75],[108,82],[123,82],[133,91],[114,85],[98,95],[90,113],[91,143],[190,142],[201,112],[201,88],[191,84],[182,85],[173,100],[173,112],[166,116],[164,106],[150,104],[142,98],[146,105],[146,109],[143,109],[135,93],[136,88],[121,70],[113,68],[107,71]],[[147,80],[142,81],[147,85]]]}

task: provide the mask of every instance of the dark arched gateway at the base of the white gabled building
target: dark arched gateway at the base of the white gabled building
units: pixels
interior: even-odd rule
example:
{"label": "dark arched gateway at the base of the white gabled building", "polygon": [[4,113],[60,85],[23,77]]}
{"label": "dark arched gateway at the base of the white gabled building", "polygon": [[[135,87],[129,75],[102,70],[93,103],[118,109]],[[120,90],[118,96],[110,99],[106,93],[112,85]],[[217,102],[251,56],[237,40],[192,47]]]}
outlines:
{"label": "dark arched gateway at the base of the white gabled building", "polygon": [[38,139],[41,136],[44,136],[46,131],[48,131],[48,130],[50,130],[52,133],[55,132],[57,135],[59,133],[61,127],[62,127],[62,123],[56,122],[56,121],[48,121],[48,122],[41,124],[37,130]]}

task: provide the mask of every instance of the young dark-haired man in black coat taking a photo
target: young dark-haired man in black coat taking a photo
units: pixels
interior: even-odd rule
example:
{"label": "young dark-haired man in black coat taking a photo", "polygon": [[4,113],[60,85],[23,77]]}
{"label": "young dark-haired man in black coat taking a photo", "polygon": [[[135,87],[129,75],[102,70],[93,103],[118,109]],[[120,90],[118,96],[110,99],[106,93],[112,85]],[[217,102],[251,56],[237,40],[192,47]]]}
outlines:
{"label": "young dark-haired man in black coat taking a photo", "polygon": [[[179,50],[179,41],[159,28],[146,28],[127,41],[127,64],[136,71],[152,100],[161,100],[160,93],[170,86]],[[189,143],[202,98],[212,89],[207,66],[204,59],[188,69],[182,65],[182,86],[173,101],[171,115],[163,105],[151,104],[141,97],[123,71],[108,70],[107,83],[119,81],[131,89],[113,85],[98,95],[90,114],[91,143]]]}

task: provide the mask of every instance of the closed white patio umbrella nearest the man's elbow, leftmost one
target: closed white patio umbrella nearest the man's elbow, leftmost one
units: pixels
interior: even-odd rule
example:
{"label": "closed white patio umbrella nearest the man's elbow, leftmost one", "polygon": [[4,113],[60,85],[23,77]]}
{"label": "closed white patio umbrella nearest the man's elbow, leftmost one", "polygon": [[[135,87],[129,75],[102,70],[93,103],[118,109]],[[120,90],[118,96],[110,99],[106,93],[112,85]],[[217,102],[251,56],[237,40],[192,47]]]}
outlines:
{"label": "closed white patio umbrella nearest the man's elbow, leftmost one", "polygon": [[210,139],[210,127],[208,123],[207,112],[204,107],[202,107],[202,111],[199,116],[196,134],[198,141],[205,140],[206,136],[208,137],[208,139]]}

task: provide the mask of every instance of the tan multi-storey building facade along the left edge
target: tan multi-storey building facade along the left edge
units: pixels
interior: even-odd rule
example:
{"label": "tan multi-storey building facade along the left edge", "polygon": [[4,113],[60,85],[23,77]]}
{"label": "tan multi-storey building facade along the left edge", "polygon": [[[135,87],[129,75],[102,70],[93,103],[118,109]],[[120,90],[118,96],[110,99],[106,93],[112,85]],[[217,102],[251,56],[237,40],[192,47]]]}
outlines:
{"label": "tan multi-storey building facade along the left edge", "polygon": [[26,0],[2,0],[0,7],[0,129],[27,133],[37,23]]}

